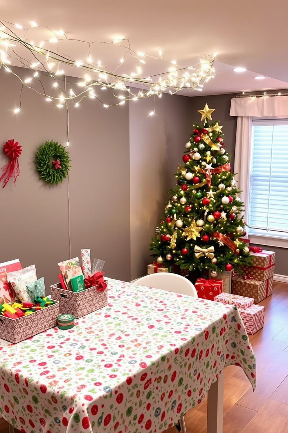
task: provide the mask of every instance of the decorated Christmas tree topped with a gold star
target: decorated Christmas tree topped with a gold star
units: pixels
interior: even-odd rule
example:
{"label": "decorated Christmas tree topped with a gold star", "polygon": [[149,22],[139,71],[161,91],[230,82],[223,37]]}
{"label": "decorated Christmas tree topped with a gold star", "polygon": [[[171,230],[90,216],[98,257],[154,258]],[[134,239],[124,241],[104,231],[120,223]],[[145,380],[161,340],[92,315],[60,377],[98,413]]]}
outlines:
{"label": "decorated Christmas tree topped with a gold star", "polygon": [[198,110],[204,123],[193,125],[184,164],[174,174],[177,185],[169,191],[150,245],[158,264],[179,265],[198,275],[251,265],[249,248],[241,240],[246,234],[244,203],[237,195],[241,191],[231,173],[222,126],[212,121],[213,111],[207,104]]}

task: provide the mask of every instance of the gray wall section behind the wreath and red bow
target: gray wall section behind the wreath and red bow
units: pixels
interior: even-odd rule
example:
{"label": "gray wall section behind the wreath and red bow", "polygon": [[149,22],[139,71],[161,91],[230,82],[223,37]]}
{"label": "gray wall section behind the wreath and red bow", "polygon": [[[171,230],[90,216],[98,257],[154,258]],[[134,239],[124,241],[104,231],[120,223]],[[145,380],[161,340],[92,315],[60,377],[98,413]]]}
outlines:
{"label": "gray wall section behind the wreath and red bow", "polygon": [[[26,78],[27,70],[17,68]],[[51,83],[45,83],[51,88]],[[0,187],[0,262],[19,258],[36,265],[47,293],[57,282],[57,262],[69,259],[67,179],[59,185],[39,180],[33,158],[46,140],[66,144],[65,109],[23,88],[12,74],[0,71],[0,166],[6,164],[3,144],[22,145],[20,176]],[[112,101],[109,91],[105,97]],[[105,273],[130,279],[129,106],[109,107],[87,98],[70,108],[71,256],[90,248],[106,261]]]}

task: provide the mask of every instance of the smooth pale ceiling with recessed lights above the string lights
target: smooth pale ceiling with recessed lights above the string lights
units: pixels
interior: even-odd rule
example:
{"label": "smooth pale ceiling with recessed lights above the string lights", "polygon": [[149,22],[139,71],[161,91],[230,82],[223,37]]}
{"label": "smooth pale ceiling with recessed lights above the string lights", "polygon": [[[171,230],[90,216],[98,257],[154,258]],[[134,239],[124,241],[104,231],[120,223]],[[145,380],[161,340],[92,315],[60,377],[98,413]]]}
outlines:
{"label": "smooth pale ceiling with recessed lights above the string lights", "polygon": [[[158,57],[159,48],[163,58],[175,59],[183,67],[198,63],[202,53],[217,52],[215,78],[204,85],[202,95],[288,88],[287,0],[0,0],[0,11],[4,21],[24,28],[35,21],[54,31],[63,29],[70,39],[111,42],[117,36],[128,38],[133,50],[146,53],[142,68],[146,76],[163,72],[163,64],[147,56]],[[35,44],[40,43],[37,37],[35,33]],[[83,55],[79,42],[63,44],[62,52],[65,49],[75,59]],[[87,52],[87,44],[84,47]],[[121,57],[118,48],[93,45],[92,55],[113,68]],[[169,66],[165,65],[165,71]],[[239,66],[247,71],[234,72]],[[65,70],[65,74],[77,76],[79,69],[75,69]],[[258,75],[266,78],[256,80]],[[181,93],[200,95],[195,90]]]}

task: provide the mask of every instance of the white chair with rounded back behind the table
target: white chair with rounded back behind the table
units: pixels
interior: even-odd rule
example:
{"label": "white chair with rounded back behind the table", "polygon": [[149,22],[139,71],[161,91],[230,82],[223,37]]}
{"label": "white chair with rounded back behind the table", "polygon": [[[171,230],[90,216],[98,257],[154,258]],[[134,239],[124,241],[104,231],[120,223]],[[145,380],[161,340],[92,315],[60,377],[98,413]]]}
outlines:
{"label": "white chair with rounded back behind the table", "polygon": [[[154,287],[155,289],[166,290],[168,292],[198,297],[196,288],[191,281],[187,280],[185,277],[182,277],[182,275],[177,275],[170,272],[157,272],[156,274],[145,275],[144,277],[138,278],[138,280],[134,280],[133,283],[140,284],[142,286]],[[183,433],[186,433],[184,417],[180,418],[176,428],[178,431],[181,430]]]}

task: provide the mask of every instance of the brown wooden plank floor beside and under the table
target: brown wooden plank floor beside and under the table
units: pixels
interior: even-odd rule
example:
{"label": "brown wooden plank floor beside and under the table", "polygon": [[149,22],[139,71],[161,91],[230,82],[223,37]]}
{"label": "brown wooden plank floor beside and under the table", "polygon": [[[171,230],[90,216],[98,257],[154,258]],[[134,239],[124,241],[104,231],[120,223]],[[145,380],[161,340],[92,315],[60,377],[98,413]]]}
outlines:
{"label": "brown wooden plank floor beside and under the table", "polygon": [[[259,304],[266,307],[264,328],[250,336],[256,390],[240,367],[225,368],[223,433],[288,433],[288,284],[273,284],[272,295]],[[206,433],[206,410],[204,400],[185,415],[187,433]],[[8,433],[3,419],[0,433]]]}

